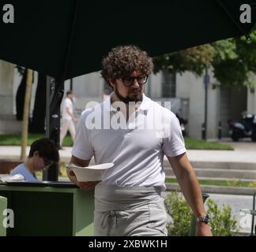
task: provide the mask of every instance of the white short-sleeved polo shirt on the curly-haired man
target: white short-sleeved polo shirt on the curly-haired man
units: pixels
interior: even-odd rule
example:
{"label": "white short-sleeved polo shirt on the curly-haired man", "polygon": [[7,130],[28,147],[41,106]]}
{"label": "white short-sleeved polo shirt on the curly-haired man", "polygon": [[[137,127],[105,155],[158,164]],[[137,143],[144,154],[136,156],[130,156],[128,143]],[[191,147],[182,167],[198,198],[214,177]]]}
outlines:
{"label": "white short-sleeved polo shirt on the curly-haired man", "polygon": [[77,124],[73,156],[96,164],[114,163],[102,183],[116,186],[165,188],[164,154],[186,152],[179,120],[169,109],[143,95],[141,105],[126,122],[111,106],[111,97],[86,109]]}

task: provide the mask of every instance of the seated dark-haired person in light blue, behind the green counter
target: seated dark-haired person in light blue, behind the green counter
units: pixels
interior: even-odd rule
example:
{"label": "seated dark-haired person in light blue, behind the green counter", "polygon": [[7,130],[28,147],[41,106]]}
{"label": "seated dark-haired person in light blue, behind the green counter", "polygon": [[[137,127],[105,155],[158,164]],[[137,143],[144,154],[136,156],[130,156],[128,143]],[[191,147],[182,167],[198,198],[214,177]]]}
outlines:
{"label": "seated dark-haired person in light blue, behind the green counter", "polygon": [[38,139],[32,143],[27,160],[17,165],[10,175],[21,174],[25,181],[35,182],[38,181],[37,171],[47,169],[58,161],[59,155],[55,143],[51,139]]}

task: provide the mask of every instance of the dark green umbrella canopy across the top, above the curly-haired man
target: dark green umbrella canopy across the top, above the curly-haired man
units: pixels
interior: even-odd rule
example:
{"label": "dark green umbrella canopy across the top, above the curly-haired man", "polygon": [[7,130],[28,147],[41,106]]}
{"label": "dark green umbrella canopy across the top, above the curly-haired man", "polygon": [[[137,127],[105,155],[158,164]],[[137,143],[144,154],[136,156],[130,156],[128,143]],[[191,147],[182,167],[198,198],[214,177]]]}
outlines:
{"label": "dark green umbrella canopy across the top, above the curly-haired man", "polygon": [[[2,6],[14,7],[14,24]],[[243,24],[240,6],[250,4]],[[151,56],[247,35],[254,0],[0,0],[0,58],[66,80],[100,69],[113,46],[135,44]]]}

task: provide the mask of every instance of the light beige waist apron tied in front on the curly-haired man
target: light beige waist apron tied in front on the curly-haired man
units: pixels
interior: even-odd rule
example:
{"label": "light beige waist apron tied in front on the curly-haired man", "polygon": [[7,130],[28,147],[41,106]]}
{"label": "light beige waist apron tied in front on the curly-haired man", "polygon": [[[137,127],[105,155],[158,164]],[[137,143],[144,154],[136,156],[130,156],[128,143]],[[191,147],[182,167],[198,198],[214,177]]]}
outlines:
{"label": "light beige waist apron tied in front on the curly-haired man", "polygon": [[95,188],[94,235],[166,236],[167,213],[160,187]]}

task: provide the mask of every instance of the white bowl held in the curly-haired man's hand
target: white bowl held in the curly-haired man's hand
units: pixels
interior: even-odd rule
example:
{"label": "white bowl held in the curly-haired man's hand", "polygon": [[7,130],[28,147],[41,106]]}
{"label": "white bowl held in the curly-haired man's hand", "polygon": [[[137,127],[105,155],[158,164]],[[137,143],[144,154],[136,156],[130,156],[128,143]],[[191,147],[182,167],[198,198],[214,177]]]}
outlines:
{"label": "white bowl held in the curly-haired man's hand", "polygon": [[87,182],[87,181],[100,181],[102,180],[102,176],[104,172],[113,167],[113,163],[105,163],[100,165],[92,165],[87,167],[81,167],[73,164],[66,165],[69,169],[71,169],[77,177],[77,181],[79,182]]}

